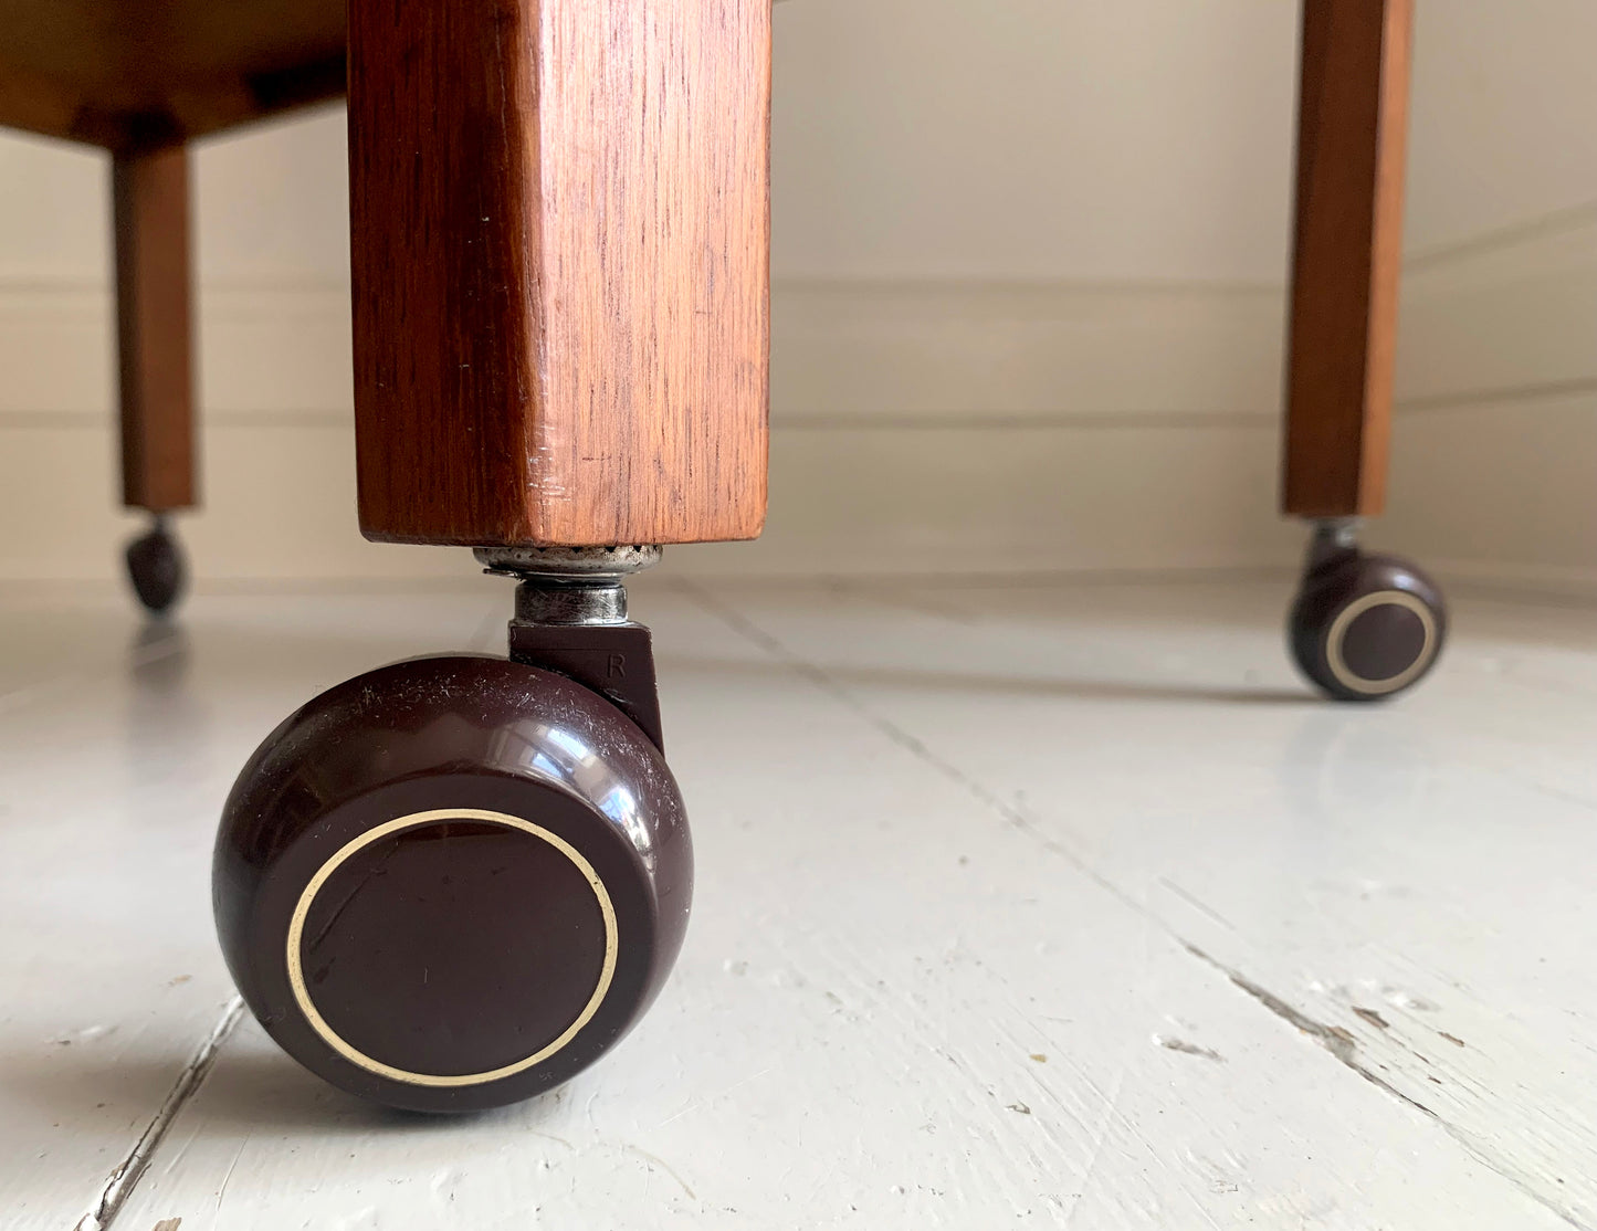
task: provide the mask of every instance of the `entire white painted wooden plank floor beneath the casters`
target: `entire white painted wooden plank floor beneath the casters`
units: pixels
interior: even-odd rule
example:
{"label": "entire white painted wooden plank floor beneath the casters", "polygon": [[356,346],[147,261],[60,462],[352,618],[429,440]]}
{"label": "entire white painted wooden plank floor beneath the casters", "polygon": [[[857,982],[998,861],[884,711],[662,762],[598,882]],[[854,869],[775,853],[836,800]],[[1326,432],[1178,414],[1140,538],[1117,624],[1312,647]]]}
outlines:
{"label": "entire white painted wooden plank floor beneath the casters", "polygon": [[235,1019],[212,824],[289,709],[498,647],[508,586],[164,634],[5,591],[0,1226],[1597,1226],[1597,612],[1460,600],[1346,709],[1286,599],[645,580],[682,961],[564,1090],[428,1119]]}

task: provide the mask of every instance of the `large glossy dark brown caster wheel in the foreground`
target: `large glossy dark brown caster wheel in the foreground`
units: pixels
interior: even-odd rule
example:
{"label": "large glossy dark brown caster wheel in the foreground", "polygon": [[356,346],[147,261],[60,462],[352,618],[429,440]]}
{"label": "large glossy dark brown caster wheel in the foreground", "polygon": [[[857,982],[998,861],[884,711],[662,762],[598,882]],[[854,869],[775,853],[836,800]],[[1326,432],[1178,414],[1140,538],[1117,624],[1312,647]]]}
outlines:
{"label": "large glossy dark brown caster wheel in the foreground", "polygon": [[615,699],[422,658],[267,738],[212,889],[233,979],[284,1051],[380,1103],[468,1111],[557,1086],[637,1022],[682,944],[692,848],[656,741]]}

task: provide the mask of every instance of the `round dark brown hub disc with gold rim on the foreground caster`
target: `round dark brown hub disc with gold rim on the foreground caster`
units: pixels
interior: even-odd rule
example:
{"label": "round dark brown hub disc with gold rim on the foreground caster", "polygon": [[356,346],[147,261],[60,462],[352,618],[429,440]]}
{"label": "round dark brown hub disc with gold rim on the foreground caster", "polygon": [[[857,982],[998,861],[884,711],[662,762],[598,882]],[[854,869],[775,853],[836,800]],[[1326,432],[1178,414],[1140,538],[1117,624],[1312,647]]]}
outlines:
{"label": "round dark brown hub disc with gold rim on the foreground caster", "polygon": [[615,977],[592,864],[506,813],[401,816],[345,843],[289,921],[289,985],[321,1039],[414,1086],[476,1086],[565,1047]]}

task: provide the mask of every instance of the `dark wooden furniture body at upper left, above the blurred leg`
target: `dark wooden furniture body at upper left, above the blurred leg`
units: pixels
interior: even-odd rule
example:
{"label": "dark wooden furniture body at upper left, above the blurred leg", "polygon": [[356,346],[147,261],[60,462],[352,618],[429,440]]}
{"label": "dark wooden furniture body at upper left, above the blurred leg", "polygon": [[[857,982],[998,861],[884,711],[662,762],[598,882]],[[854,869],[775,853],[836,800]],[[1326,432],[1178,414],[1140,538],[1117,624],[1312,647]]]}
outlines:
{"label": "dark wooden furniture body at upper left, above the blurred leg", "polygon": [[342,0],[0,0],[0,125],[169,145],[343,93]]}

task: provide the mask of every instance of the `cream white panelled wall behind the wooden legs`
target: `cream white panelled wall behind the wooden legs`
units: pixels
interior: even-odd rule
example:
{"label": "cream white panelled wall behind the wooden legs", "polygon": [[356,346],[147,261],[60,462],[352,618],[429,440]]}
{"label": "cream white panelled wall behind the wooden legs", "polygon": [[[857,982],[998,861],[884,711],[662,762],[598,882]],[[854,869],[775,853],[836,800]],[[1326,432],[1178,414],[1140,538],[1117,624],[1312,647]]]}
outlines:
{"label": "cream white panelled wall behind the wooden legs", "polygon": [[[1295,5],[776,10],[759,572],[1279,564]],[[1597,588],[1597,6],[1431,0],[1391,516],[1453,575]],[[468,572],[355,532],[342,112],[198,158],[211,576]],[[0,576],[101,576],[99,156],[0,139]],[[131,522],[129,522],[131,525]]]}

